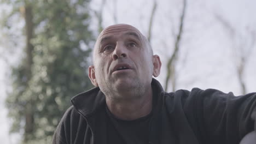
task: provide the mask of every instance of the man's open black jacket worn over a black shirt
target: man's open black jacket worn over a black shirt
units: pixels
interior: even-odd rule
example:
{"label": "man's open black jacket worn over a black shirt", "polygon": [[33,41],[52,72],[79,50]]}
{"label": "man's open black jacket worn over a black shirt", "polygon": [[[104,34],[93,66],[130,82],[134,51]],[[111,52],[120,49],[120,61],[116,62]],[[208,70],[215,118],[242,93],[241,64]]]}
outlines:
{"label": "man's open black jacket worn over a black shirt", "polygon": [[[193,88],[166,93],[152,80],[157,104],[150,121],[149,143],[239,143],[253,131],[256,93],[235,97],[216,89]],[[106,143],[106,101],[98,87],[78,94],[62,117],[53,143]],[[130,144],[130,143],[129,143]]]}

